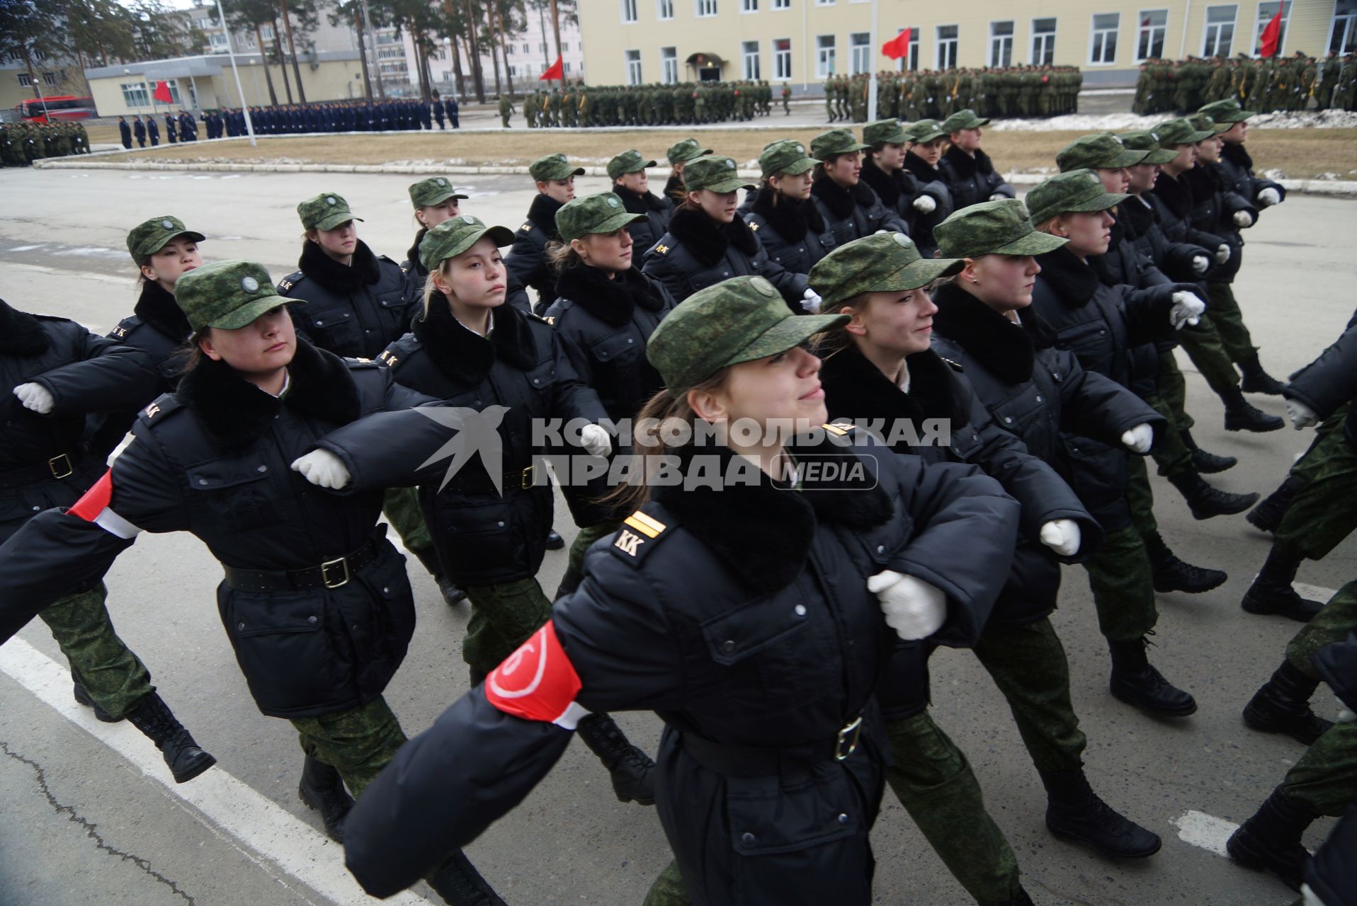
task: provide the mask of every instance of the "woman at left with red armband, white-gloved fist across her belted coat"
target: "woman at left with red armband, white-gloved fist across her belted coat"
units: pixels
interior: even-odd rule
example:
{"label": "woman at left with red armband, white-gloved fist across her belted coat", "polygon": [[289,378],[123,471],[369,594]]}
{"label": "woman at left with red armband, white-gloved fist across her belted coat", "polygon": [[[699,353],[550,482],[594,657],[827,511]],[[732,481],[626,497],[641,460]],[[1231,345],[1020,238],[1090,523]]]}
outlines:
{"label": "woman at left with red armband, white-gloved fist across her belted coat", "polygon": [[[345,487],[350,469],[316,448],[364,416],[383,418],[383,435],[410,450],[436,450],[448,430],[406,411],[433,400],[388,370],[297,340],[289,300],[261,264],[205,264],[179,278],[175,298],[193,366],[141,411],[134,441],[75,506],[0,548],[0,601],[23,602],[0,613],[0,642],[96,582],[140,532],[195,534],[225,570],[217,610],[255,704],[297,728],[299,795],[342,840],[350,792],[361,796],[404,742],[381,693],[414,632],[414,601],[377,514],[383,488],[419,476],[387,457],[364,469],[376,490],[331,494],[322,488]],[[436,890],[489,891],[449,854],[429,867]]]}

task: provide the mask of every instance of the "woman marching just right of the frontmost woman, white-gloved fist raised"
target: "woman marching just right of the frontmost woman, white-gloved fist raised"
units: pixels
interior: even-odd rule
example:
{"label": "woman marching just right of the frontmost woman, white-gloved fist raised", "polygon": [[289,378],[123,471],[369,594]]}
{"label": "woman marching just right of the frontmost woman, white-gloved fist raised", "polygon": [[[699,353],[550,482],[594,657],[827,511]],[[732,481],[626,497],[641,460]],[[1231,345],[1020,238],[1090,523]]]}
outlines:
{"label": "woman marching just right of the frontmost woman, white-gloved fist raised", "polygon": [[[1027,250],[1046,248],[1044,237]],[[1014,251],[1023,251],[1018,248]],[[1158,852],[1160,841],[1109,808],[1082,769],[1084,735],[1069,696],[1069,665],[1050,624],[1060,563],[1088,559],[1102,529],[1052,467],[1027,452],[985,411],[959,366],[930,350],[938,308],[930,285],[961,271],[955,259],[920,258],[901,235],[868,236],[830,252],[810,274],[825,311],[849,315],[825,335],[821,380],[833,418],[875,422],[898,453],[927,462],[974,462],[1023,507],[1012,568],[976,644],[976,656],[1008,700],[1042,783],[1053,833],[1122,857]],[[950,429],[949,444],[920,441],[930,419]],[[915,431],[896,434],[900,429]],[[1058,423],[1046,426],[1058,444]],[[927,675],[930,648],[900,643],[892,675]],[[883,684],[893,766],[887,779],[915,823],[981,906],[1030,903],[1018,860],[985,812],[970,765],[927,712],[927,697]]]}

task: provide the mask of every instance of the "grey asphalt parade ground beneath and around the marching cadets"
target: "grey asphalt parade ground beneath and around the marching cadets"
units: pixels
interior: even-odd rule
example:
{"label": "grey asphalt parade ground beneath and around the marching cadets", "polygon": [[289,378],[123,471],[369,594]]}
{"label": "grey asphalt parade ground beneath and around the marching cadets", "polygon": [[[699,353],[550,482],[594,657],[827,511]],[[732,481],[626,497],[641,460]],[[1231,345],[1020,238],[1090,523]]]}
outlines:
{"label": "grey asphalt parade ground beneath and around the marching cadets", "polygon": [[[175,214],[204,232],[206,260],[259,260],[281,279],[296,269],[301,245],[294,205],[320,191],[347,198],[365,218],[360,237],[399,262],[417,226],[406,194],[414,179],[0,171],[0,297],[107,331],[132,312],[137,296],[126,231],[157,214]],[[491,224],[518,226],[532,199],[527,176],[455,182],[470,195],[463,210]],[[605,187],[605,179],[584,178],[578,191]],[[1353,313],[1357,203],[1297,194],[1266,210],[1244,237],[1235,292],[1263,365],[1285,377],[1337,338]],[[1205,449],[1240,460],[1210,481],[1229,491],[1272,491],[1310,433],[1227,434],[1220,401],[1186,357],[1182,365],[1194,437]],[[1251,401],[1272,414],[1284,411],[1278,397]],[[1152,484],[1170,547],[1185,560],[1229,572],[1224,586],[1204,595],[1159,595],[1151,659],[1197,697],[1200,711],[1181,722],[1156,720],[1111,698],[1106,646],[1077,567],[1065,570],[1053,621],[1069,655],[1094,788],[1162,834],[1163,850],[1122,864],[1045,830],[1037,773],[1001,696],[969,654],[943,650],[934,658],[934,716],[970,758],[1034,902],[1282,906],[1295,894],[1281,882],[1234,865],[1223,853],[1234,825],[1253,814],[1301,754],[1299,743],[1254,732],[1239,716],[1299,624],[1239,609],[1266,556],[1267,536],[1242,515],[1196,522],[1166,481]],[[567,543],[575,532],[559,502],[556,529]],[[563,551],[548,552],[539,575],[544,589],[555,589],[565,564]],[[418,564],[410,575],[419,625],[387,700],[413,735],[467,690],[460,643],[468,610],[442,604]],[[1357,543],[1349,538],[1324,560],[1307,562],[1299,582],[1312,586],[1303,593],[1327,597],[1323,590],[1353,578]],[[213,606],[220,579],[217,563],[187,534],[141,536],[107,578],[119,635],[218,760],[189,784],[174,784],[160,754],[133,727],[100,724],[72,701],[65,662],[45,625],[34,621],[0,647],[0,903],[373,902],[345,872],[342,850],[323,835],[319,816],[297,799],[296,734],[286,722],[262,716],[246,689]],[[1324,688],[1315,704],[1324,716],[1337,712]],[[623,713],[617,720],[634,742],[654,751],[655,716]],[[1330,827],[1329,819],[1316,822],[1305,842],[1316,845]],[[970,902],[889,791],[873,841],[878,903]],[[617,803],[607,773],[578,743],[468,853],[514,906],[641,903],[669,861],[654,810]],[[418,903],[421,897],[434,899],[421,887],[388,902]]]}

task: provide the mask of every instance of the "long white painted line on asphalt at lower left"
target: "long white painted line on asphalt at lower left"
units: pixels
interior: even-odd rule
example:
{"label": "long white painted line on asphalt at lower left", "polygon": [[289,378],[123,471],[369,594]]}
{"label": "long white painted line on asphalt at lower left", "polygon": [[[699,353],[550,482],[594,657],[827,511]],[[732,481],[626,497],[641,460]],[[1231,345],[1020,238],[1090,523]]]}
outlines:
{"label": "long white painted line on asphalt at lower left", "polygon": [[[0,647],[0,671],[31,692],[62,717],[132,762],[145,777],[161,784],[166,793],[190,806],[209,830],[227,831],[277,869],[290,875],[341,906],[373,903],[343,867],[343,850],[307,822],[242,783],[221,765],[199,777],[176,784],[155,746],[129,723],[99,723],[94,711],[71,697],[71,674],[52,658],[19,637]],[[270,871],[265,865],[266,871]],[[271,871],[270,871],[271,873]],[[410,891],[387,903],[427,906]]]}

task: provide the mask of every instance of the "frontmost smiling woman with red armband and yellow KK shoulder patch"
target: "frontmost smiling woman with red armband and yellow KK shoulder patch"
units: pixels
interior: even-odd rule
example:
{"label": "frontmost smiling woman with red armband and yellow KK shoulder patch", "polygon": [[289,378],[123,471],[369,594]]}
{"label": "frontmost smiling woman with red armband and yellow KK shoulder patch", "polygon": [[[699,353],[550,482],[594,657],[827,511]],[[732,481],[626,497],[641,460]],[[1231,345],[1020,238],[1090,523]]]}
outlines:
{"label": "frontmost smiling woman with red armband and yellow KK shoulder patch", "polygon": [[[647,358],[668,389],[643,416],[673,419],[677,446],[647,449],[680,480],[628,488],[654,499],[589,551],[579,589],[360,802],[346,857],[369,892],[408,886],[513,808],[589,709],[627,708],[668,724],[660,819],[692,902],[870,902],[885,768],[871,690],[896,637],[882,613],[901,636],[970,644],[1016,505],[973,469],[881,457],[851,429],[783,446],[775,420],[825,416],[803,343],[841,321],[794,316],[744,277],[661,323]],[[699,420],[745,427],[700,445]],[[854,477],[798,479],[790,457],[811,453]],[[712,472],[726,480],[683,480]],[[995,568],[957,563],[959,547]]]}

